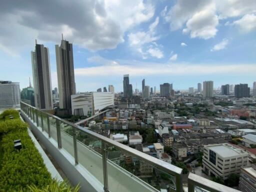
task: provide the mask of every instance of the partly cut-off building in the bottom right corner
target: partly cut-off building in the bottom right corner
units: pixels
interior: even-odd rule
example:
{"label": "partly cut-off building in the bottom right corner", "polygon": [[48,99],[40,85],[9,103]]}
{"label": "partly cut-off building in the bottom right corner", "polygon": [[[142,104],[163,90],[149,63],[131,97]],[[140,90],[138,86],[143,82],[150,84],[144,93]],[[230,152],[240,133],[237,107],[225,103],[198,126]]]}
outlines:
{"label": "partly cut-off building in the bottom right corner", "polygon": [[239,178],[239,189],[242,192],[256,191],[256,165],[255,164],[241,167],[241,173]]}

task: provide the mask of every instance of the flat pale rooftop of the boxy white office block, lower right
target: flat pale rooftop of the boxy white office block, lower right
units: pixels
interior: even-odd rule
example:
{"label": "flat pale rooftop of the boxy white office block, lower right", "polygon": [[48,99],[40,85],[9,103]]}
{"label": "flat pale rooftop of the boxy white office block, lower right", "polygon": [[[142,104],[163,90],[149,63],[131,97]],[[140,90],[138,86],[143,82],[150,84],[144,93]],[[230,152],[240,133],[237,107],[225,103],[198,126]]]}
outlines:
{"label": "flat pale rooftop of the boxy white office block, lower right", "polygon": [[247,153],[240,148],[236,148],[228,143],[214,144],[206,147],[224,158]]}

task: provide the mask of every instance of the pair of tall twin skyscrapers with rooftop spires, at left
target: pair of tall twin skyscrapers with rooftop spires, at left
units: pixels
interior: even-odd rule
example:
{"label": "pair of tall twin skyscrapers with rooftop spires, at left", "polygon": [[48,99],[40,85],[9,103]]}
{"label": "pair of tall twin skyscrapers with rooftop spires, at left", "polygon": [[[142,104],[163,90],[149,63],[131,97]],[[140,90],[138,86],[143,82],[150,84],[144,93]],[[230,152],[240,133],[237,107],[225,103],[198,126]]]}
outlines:
{"label": "pair of tall twin skyscrapers with rooftop spires, at left", "polygon": [[[57,81],[59,92],[59,108],[71,113],[70,96],[75,94],[74,64],[72,43],[62,40],[60,46],[55,45]],[[37,44],[31,51],[32,74],[34,84],[35,107],[40,109],[53,109],[52,88],[50,75],[49,49],[43,44]]]}

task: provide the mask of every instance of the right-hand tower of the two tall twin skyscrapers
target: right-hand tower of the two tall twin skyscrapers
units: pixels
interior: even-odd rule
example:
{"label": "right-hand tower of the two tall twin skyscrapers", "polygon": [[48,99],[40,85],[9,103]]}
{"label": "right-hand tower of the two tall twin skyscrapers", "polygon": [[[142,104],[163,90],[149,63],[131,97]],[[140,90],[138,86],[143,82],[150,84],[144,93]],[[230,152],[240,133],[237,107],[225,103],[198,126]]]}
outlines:
{"label": "right-hand tower of the two tall twin skyscrapers", "polygon": [[72,43],[61,40],[60,46],[55,45],[59,107],[71,113],[71,95],[75,94],[74,64]]}

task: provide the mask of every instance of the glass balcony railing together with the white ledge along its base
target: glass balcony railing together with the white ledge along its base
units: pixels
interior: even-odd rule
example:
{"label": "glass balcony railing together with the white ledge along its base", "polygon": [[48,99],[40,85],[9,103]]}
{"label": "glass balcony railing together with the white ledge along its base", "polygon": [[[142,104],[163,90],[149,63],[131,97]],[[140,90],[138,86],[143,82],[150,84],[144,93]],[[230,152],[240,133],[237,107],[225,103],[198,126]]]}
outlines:
{"label": "glass balcony railing together with the white ledge along its base", "polygon": [[[182,183],[181,168],[24,102],[20,114],[69,181],[80,184],[81,191],[183,191],[183,185],[189,192],[238,191],[193,173],[189,173],[188,183]],[[111,158],[111,153],[119,155]]]}

